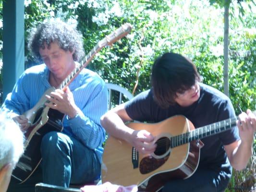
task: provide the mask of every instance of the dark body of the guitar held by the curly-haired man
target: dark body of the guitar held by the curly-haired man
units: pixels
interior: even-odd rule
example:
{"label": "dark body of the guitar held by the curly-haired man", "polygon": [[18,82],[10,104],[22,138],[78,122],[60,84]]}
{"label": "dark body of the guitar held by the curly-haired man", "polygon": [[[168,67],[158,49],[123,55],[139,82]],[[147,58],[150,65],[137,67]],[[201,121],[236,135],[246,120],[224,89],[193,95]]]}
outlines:
{"label": "dark body of the guitar held by the curly-haired man", "polygon": [[50,87],[37,102],[37,105],[24,113],[24,116],[31,122],[31,126],[24,133],[24,154],[12,172],[12,177],[18,183],[26,181],[41,162],[40,145],[43,136],[52,131],[61,132],[63,129],[64,114],[44,105],[47,102],[45,95],[49,95],[54,90],[54,87]]}

